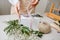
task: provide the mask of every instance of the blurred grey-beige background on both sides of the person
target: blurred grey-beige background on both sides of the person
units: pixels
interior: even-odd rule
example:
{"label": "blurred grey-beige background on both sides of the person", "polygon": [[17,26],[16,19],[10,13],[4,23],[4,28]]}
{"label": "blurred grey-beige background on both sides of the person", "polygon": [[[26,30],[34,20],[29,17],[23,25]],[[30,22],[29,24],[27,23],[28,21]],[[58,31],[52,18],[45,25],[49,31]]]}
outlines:
{"label": "blurred grey-beige background on both sides of the person", "polygon": [[[56,3],[56,6],[60,0],[52,0]],[[38,6],[36,7],[37,13],[44,13],[49,11],[51,7],[51,2],[49,0],[40,0]],[[57,6],[58,7],[58,6]],[[9,15],[11,9],[11,4],[8,0],[0,0],[0,15]]]}

